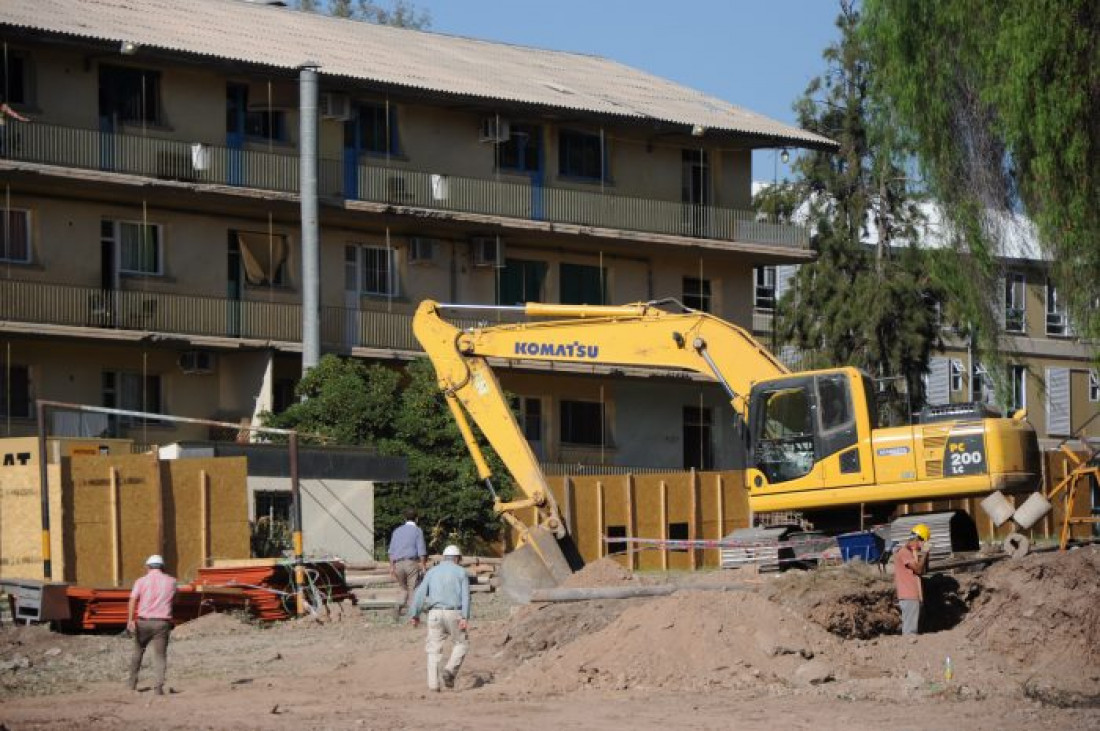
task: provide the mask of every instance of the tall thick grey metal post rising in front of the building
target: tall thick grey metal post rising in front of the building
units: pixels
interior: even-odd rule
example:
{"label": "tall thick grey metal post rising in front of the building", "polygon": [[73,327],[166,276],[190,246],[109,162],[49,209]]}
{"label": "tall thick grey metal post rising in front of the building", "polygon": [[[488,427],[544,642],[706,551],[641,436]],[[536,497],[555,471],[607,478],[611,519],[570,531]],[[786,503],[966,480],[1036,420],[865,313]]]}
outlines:
{"label": "tall thick grey metal post rising in front of the building", "polygon": [[317,64],[299,68],[298,109],[301,196],[301,373],[321,359],[321,276],[317,220]]}

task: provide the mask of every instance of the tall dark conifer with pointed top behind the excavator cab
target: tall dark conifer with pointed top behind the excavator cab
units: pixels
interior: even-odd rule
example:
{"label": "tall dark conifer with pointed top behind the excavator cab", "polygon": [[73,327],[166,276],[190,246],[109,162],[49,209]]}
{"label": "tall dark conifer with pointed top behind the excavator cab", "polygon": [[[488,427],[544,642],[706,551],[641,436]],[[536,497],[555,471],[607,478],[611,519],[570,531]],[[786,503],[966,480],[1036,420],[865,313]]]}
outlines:
{"label": "tall dark conifer with pointed top behind the excavator cab", "polygon": [[[817,254],[780,302],[777,335],[801,348],[804,367],[855,365],[875,377],[900,377],[917,406],[937,344],[937,290],[915,245],[921,214],[905,149],[871,96],[872,68],[853,2],[840,3],[837,26],[839,42],[823,54],[827,70],[795,110],[803,128],[836,140],[839,149],[803,155],[795,163],[800,180],[763,203],[804,215]],[[873,247],[866,243],[872,229]],[[888,391],[902,390],[883,383]]]}

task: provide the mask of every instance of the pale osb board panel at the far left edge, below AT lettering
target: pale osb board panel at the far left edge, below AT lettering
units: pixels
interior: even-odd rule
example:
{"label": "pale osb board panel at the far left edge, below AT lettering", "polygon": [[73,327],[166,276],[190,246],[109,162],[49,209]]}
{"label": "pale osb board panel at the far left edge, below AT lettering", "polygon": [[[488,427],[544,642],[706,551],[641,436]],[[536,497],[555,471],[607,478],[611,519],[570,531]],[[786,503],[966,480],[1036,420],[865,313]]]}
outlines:
{"label": "pale osb board panel at the far left edge, below AT lettering", "polygon": [[[61,467],[51,465],[50,551],[51,573],[64,576]],[[9,466],[0,469],[0,578],[43,579],[42,492],[38,467]]]}

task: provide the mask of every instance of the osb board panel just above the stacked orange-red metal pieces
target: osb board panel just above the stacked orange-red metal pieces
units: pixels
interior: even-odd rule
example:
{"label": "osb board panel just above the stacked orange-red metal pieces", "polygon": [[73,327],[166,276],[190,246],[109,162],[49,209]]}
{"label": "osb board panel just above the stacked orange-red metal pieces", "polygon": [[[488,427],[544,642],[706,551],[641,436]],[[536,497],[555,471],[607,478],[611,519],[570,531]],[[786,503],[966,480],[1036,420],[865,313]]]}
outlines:
{"label": "osb board panel just above the stacked orange-red metal pieces", "polygon": [[208,485],[208,558],[248,558],[249,491],[246,457],[166,459],[164,560],[182,580],[204,565],[202,480]]}

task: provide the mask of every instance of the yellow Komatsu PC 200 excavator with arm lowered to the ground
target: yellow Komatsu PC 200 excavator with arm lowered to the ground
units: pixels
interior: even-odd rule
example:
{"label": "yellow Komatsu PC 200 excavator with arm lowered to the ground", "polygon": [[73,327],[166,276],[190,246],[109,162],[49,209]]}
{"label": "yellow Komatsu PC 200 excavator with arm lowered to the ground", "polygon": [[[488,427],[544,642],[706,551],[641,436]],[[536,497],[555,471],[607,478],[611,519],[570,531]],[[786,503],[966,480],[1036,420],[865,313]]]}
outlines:
{"label": "yellow Komatsu PC 200 excavator with arm lowered to the ground", "polygon": [[[528,319],[462,329],[444,320],[443,310]],[[518,534],[502,571],[518,597],[556,586],[573,566],[559,544],[566,527],[488,358],[673,369],[717,380],[746,436],[745,487],[754,512],[1024,491],[1041,479],[1035,431],[1022,414],[947,411],[930,423],[880,428],[867,374],[853,367],[791,373],[741,328],[675,300],[517,307],[427,300],[413,331],[496,511]],[[519,499],[498,498],[470,420],[512,474]],[[531,524],[515,514],[524,509],[535,510]]]}

